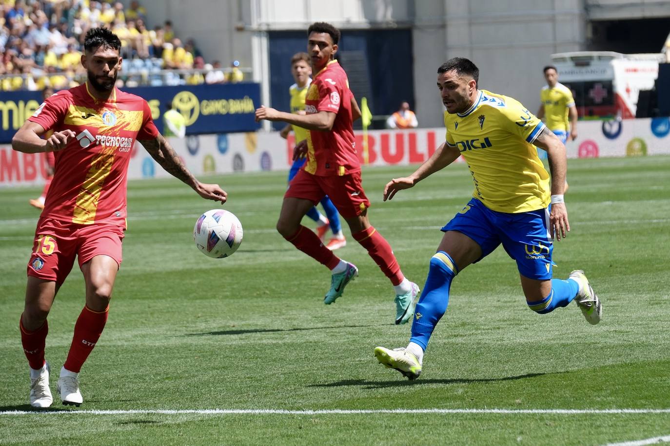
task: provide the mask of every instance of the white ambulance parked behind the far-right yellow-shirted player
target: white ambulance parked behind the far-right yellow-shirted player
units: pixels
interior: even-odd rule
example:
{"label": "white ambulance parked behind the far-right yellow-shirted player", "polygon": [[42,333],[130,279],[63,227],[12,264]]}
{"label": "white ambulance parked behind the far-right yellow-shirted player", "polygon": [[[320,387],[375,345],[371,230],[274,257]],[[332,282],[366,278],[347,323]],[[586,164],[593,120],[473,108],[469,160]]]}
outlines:
{"label": "white ambulance parked behind the far-right yellow-shirted player", "polygon": [[640,90],[651,90],[663,53],[576,51],[551,55],[559,82],[572,90],[580,118],[634,118]]}

